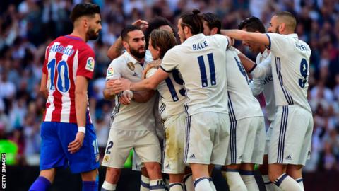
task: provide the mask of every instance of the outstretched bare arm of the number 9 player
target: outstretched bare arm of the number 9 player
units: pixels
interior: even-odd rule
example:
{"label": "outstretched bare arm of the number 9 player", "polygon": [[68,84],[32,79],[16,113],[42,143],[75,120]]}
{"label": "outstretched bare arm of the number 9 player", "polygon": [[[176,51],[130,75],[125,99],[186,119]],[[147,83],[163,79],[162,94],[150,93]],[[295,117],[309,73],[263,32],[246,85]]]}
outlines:
{"label": "outstretched bare arm of the number 9 player", "polygon": [[222,35],[234,38],[236,40],[245,40],[249,42],[256,42],[261,45],[270,47],[270,38],[266,34],[251,33],[244,30],[221,30]]}

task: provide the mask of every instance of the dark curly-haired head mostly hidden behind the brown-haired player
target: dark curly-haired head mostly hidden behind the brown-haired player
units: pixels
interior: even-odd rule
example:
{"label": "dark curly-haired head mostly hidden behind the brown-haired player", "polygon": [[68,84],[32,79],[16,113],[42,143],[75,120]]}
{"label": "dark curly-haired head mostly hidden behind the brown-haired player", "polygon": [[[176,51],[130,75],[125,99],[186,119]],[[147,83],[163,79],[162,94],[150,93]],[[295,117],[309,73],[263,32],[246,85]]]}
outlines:
{"label": "dark curly-haired head mostly hidden behind the brown-haired player", "polygon": [[152,31],[157,28],[160,28],[162,30],[167,30],[173,34],[176,33],[174,26],[172,25],[171,22],[169,22],[166,18],[157,16],[148,23],[148,28],[146,28],[145,30],[146,47],[148,47],[148,38],[149,38],[150,33],[152,33]]}

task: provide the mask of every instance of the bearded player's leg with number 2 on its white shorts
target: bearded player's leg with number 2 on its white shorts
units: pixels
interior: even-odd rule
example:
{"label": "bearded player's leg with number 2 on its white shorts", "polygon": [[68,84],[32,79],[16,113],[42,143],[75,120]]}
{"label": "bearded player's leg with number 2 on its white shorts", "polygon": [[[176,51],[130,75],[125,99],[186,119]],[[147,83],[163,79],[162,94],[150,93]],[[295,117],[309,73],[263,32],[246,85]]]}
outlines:
{"label": "bearded player's leg with number 2 on its white shorts", "polygon": [[133,147],[133,141],[131,141],[134,138],[133,133],[119,129],[109,130],[105,156],[102,161],[102,166],[107,167],[102,191],[116,190],[121,168],[124,168],[124,163]]}

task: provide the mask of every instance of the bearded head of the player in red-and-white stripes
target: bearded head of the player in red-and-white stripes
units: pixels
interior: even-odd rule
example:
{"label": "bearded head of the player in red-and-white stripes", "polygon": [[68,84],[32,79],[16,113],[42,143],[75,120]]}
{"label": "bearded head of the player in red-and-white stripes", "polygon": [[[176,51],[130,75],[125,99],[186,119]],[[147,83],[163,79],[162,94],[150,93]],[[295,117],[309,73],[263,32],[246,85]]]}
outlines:
{"label": "bearded head of the player in red-and-white stripes", "polygon": [[97,4],[76,4],[71,12],[74,28],[85,30],[87,40],[95,40],[102,28],[100,7]]}

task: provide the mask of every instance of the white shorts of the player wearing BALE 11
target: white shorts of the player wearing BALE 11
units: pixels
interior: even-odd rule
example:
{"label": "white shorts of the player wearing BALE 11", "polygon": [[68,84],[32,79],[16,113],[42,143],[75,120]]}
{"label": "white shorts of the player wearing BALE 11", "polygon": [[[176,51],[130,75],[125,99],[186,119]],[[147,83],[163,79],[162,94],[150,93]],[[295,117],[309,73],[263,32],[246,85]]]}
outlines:
{"label": "white shorts of the player wearing BALE 11", "polygon": [[187,117],[184,162],[224,165],[229,136],[228,114],[201,112]]}

